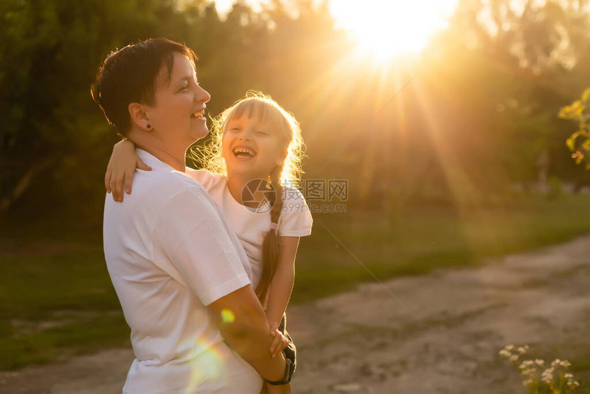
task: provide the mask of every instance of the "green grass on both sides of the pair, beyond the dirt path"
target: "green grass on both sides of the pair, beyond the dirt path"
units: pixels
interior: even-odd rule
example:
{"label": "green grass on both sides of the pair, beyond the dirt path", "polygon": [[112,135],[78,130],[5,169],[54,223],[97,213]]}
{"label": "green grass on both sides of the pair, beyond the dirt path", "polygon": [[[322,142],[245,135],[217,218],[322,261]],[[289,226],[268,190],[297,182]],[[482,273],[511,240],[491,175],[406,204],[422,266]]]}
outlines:
{"label": "green grass on both sides of the pair, beyond the dirt path", "polygon": [[[458,213],[412,207],[314,216],[300,245],[292,303],[357,283],[526,251],[590,233],[590,197],[531,199],[510,209]],[[322,224],[329,229],[336,240]],[[346,251],[353,253],[362,264]],[[368,267],[370,273],[366,268]],[[45,223],[0,228],[0,369],[129,345],[96,231]]]}

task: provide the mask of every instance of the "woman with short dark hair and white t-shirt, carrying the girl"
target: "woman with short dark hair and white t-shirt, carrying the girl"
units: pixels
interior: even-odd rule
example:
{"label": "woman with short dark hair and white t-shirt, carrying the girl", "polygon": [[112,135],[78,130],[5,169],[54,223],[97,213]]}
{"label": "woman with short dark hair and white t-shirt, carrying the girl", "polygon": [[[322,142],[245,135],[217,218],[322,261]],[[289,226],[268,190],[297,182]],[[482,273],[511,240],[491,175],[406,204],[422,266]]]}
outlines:
{"label": "woman with short dark hair and white t-shirt, carrying the girl", "polygon": [[105,202],[107,267],[136,356],[123,393],[257,394],[260,375],[290,393],[290,362],[270,357],[248,257],[211,196],[184,173],[187,149],[208,132],[210,96],[195,59],[184,45],[146,40],[110,54],[92,89],[152,167],[123,203]]}

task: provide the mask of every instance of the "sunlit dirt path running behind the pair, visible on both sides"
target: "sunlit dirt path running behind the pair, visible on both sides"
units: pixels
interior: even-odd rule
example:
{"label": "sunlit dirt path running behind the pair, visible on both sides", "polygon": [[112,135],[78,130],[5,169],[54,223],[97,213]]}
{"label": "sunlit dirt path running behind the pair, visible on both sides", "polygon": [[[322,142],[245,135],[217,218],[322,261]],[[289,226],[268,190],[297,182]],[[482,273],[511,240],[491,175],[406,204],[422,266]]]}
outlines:
{"label": "sunlit dirt path running behind the pair, visible on both sides", "polygon": [[[590,354],[590,236],[488,263],[290,308],[294,393],[520,393],[504,345]],[[121,393],[131,360],[115,349],[0,373],[0,394]]]}

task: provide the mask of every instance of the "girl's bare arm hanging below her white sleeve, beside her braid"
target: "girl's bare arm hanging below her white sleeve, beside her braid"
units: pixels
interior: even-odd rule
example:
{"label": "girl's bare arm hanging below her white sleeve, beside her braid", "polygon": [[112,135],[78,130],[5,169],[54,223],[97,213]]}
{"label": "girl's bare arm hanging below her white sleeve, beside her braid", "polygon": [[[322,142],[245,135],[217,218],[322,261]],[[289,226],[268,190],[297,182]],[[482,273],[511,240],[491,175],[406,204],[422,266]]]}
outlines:
{"label": "girl's bare arm hanging below her white sleeve, beside her braid", "polygon": [[268,323],[281,322],[283,314],[293,290],[295,280],[295,255],[299,245],[299,237],[279,237],[279,262],[276,264],[274,277],[268,290],[268,304],[266,306],[266,318]]}

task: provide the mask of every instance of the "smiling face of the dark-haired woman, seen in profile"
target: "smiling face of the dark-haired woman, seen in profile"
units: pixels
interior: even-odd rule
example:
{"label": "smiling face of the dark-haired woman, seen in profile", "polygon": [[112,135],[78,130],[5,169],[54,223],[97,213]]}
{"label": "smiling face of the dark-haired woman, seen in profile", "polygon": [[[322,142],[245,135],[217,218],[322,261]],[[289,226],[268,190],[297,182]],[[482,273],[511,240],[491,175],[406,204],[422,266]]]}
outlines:
{"label": "smiling face of the dark-haired woman, seen in profile", "polygon": [[211,96],[198,85],[193,65],[182,54],[174,54],[170,81],[165,67],[156,80],[156,103],[146,113],[154,132],[165,141],[193,143],[207,135],[205,103]]}

